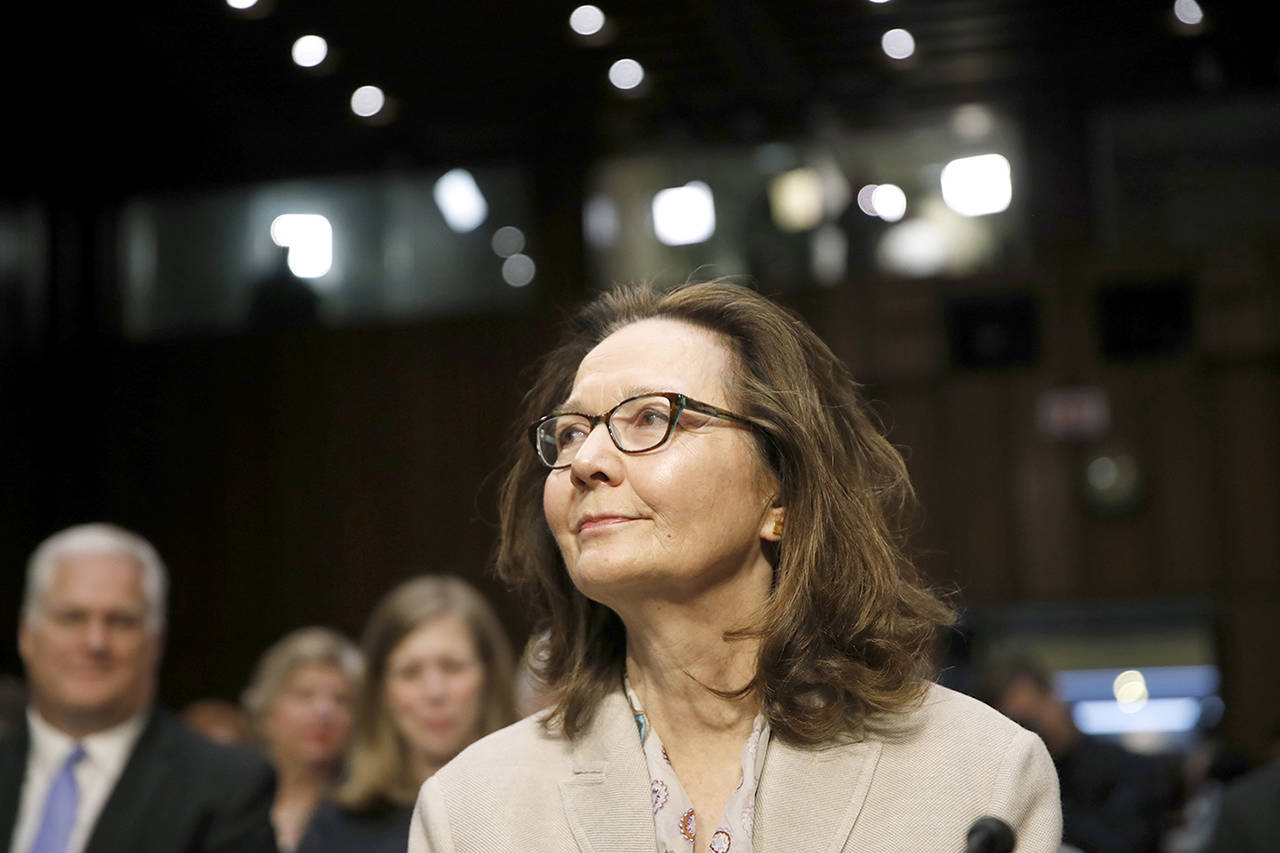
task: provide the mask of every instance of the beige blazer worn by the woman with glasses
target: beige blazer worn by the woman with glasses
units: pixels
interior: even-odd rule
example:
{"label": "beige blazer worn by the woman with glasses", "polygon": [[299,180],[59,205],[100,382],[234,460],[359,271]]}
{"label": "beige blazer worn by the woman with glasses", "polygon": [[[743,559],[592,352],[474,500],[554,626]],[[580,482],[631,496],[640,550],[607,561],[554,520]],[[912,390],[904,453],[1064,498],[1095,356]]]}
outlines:
{"label": "beige blazer worn by the woman with glasses", "polygon": [[[931,686],[900,734],[792,747],[773,739],[756,793],[755,853],[959,853],[1001,817],[1019,853],[1056,853],[1057,775],[1039,738]],[[649,772],[622,690],[576,743],[535,717],[467,748],[417,798],[410,853],[653,853]],[[732,853],[732,852],[731,852]]]}

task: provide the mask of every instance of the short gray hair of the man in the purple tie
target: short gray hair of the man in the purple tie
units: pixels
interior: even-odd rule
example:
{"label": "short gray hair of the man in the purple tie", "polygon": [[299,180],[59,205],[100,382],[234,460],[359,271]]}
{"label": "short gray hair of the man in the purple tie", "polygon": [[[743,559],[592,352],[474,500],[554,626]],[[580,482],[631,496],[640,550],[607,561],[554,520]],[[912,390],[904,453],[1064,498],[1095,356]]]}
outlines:
{"label": "short gray hair of the man in the purple tie", "polygon": [[40,605],[54,580],[58,564],[68,557],[102,555],[132,557],[138,561],[142,566],[142,594],[147,603],[147,631],[154,634],[163,629],[169,596],[169,573],[150,542],[132,530],[113,524],[78,524],[59,530],[40,543],[27,561],[23,617],[27,620],[40,617]]}

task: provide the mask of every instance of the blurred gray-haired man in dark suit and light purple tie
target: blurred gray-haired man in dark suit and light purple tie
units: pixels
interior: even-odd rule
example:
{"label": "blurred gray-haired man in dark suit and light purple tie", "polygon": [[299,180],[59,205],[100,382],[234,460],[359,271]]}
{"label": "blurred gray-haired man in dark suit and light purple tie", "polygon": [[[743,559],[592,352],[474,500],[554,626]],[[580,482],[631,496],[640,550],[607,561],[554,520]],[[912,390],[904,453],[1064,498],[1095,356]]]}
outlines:
{"label": "blurred gray-haired man in dark suit and light purple tie", "polygon": [[152,706],[168,578],[110,525],[46,539],[27,569],[18,644],[26,720],[0,739],[10,853],[274,853],[274,777]]}

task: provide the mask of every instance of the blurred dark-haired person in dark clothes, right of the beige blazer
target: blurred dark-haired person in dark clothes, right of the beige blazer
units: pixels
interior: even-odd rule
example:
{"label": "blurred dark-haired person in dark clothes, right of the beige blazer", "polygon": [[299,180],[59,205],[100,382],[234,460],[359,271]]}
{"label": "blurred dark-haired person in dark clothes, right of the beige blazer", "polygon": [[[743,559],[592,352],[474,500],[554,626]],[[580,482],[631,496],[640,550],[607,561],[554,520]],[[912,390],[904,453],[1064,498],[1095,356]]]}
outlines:
{"label": "blurred dark-haired person in dark clothes, right of the beige blazer", "polygon": [[1083,734],[1053,692],[1048,671],[1023,654],[997,657],[983,695],[1044,739],[1062,792],[1062,840],[1084,853],[1156,853],[1174,807],[1161,765]]}

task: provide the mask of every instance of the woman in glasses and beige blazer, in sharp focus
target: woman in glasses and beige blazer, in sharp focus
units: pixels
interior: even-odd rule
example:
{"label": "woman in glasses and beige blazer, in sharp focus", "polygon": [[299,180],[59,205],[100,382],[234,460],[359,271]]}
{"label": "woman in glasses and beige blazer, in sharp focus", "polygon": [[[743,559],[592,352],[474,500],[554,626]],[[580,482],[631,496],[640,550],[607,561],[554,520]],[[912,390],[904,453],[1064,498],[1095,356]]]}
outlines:
{"label": "woman in glasses and beige blazer, in sharp focus", "polygon": [[845,366],[726,283],[582,309],[525,398],[498,567],[556,704],[424,785],[410,850],[1056,850],[1043,744],[931,683],[951,611]]}

